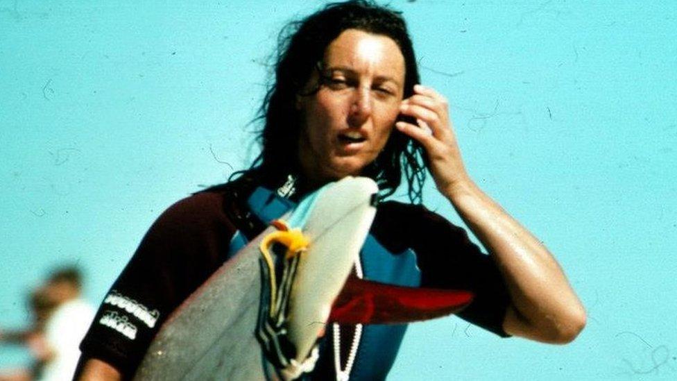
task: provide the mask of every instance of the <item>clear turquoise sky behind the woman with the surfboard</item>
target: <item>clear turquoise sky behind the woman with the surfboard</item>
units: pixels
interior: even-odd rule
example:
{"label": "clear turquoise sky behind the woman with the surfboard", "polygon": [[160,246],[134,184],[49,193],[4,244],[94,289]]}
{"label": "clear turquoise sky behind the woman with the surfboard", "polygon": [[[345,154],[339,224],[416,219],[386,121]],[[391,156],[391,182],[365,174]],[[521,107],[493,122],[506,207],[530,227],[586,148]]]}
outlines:
{"label": "clear turquoise sky behind the woman with the surfboard", "polygon": [[[58,264],[98,303],[164,208],[246,166],[277,31],[320,4],[0,0],[1,327]],[[471,175],[589,320],[568,346],[415,324],[390,379],[676,379],[677,2],[392,5]],[[0,367],[26,359],[0,347]]]}

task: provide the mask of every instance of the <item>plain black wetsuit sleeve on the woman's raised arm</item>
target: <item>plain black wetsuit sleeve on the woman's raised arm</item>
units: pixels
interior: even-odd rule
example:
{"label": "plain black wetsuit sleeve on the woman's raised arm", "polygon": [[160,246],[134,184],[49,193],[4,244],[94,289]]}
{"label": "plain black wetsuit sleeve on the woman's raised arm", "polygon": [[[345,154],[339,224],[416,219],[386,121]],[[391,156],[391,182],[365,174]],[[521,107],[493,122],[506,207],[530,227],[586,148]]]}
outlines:
{"label": "plain black wetsuit sleeve on the woman's raised arm", "polygon": [[412,207],[409,221],[413,247],[422,273],[422,287],[465,289],[474,300],[458,315],[501,337],[508,307],[508,291],[495,261],[455,226],[422,206]]}

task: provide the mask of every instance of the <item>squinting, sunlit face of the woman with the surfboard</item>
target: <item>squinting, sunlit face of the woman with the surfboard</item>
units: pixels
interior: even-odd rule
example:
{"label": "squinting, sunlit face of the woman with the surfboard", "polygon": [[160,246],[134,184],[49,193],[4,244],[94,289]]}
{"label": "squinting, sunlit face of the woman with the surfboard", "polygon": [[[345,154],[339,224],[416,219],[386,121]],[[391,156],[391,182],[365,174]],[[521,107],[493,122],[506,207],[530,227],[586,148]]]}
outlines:
{"label": "squinting, sunlit face of the woman with the surfboard", "polygon": [[[343,31],[297,96],[299,161],[313,183],[359,175],[386,145],[400,113],[404,56],[390,37]],[[318,86],[319,84],[319,86]]]}

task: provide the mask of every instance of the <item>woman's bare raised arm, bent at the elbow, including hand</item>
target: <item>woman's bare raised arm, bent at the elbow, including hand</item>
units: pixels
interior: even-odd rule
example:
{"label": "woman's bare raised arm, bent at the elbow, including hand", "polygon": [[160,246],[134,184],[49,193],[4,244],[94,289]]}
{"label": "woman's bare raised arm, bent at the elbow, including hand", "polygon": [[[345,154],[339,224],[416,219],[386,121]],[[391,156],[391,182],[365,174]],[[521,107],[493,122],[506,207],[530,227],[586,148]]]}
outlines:
{"label": "woman's bare raised arm, bent at the elbow, including hand", "polygon": [[397,129],[425,147],[438,190],[497,262],[511,298],[504,330],[548,343],[572,341],[585,326],[585,310],[559,264],[468,176],[447,100],[429,87],[416,85],[414,90],[402,101],[401,111],[424,128],[398,121]]}

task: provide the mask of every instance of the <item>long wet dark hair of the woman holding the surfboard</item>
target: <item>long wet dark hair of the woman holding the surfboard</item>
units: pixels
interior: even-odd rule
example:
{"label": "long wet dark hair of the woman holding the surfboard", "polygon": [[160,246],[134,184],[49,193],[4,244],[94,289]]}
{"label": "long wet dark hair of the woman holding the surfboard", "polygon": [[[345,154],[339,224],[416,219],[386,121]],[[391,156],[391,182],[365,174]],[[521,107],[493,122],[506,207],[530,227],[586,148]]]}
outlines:
{"label": "long wet dark hair of the woman holding the surfboard", "polygon": [[[298,140],[302,130],[296,96],[302,92],[327,46],[347,29],[390,37],[404,56],[404,98],[419,83],[418,65],[406,24],[400,12],[372,1],[353,0],[330,3],[318,12],[287,24],[278,40],[275,80],[259,110],[265,124],[259,132],[262,153],[252,170],[282,181],[289,173],[299,173]],[[409,187],[409,199],[420,203],[425,181],[423,149],[403,133],[391,134],[384,150],[368,164],[362,175],[374,179],[382,196],[390,196],[400,186],[402,169]]]}

